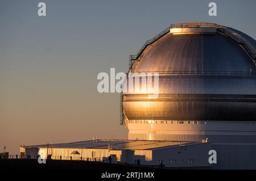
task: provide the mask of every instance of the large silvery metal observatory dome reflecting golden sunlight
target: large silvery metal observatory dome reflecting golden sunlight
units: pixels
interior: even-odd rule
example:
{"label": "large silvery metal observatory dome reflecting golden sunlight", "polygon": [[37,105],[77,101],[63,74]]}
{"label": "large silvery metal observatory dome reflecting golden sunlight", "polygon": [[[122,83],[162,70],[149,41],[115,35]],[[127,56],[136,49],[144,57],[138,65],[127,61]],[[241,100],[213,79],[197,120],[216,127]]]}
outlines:
{"label": "large silvery metal observatory dome reflecting golden sunlight", "polygon": [[233,28],[202,22],[172,25],[131,56],[129,73],[159,73],[159,95],[151,99],[138,89],[123,93],[121,124],[255,121],[255,49],[254,39]]}

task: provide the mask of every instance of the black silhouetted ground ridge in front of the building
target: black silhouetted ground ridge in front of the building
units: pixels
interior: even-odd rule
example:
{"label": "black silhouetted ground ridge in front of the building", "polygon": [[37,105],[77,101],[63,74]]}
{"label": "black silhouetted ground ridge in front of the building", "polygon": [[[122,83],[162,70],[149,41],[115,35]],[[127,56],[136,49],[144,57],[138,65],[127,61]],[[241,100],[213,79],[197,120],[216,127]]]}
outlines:
{"label": "black silhouetted ground ridge in front of the building", "polygon": [[[227,174],[226,170],[209,170],[203,167],[161,169],[160,167],[147,167],[137,165],[123,165],[117,163],[102,163],[92,161],[71,160],[47,160],[39,164],[37,159],[0,159],[0,170],[2,174],[10,177],[26,176],[27,179],[43,178],[51,175],[61,178],[84,178],[84,180],[170,180],[171,177],[182,176],[184,179],[191,175],[211,175],[211,178]],[[231,172],[230,172],[231,171]],[[236,175],[239,172],[229,170],[229,174]],[[117,178],[106,178],[106,176],[117,174]],[[248,172],[246,172],[248,174]],[[133,177],[131,176],[133,175]],[[138,178],[138,175],[143,176]],[[147,176],[147,178],[145,177]],[[103,177],[103,178],[102,178]],[[34,179],[33,179],[34,180]]]}

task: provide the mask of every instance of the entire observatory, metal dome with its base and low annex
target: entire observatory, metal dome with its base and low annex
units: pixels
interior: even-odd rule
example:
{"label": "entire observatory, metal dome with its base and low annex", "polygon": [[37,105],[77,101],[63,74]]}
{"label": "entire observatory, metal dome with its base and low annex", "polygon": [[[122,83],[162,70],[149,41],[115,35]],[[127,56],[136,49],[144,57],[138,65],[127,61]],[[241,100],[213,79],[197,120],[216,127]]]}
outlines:
{"label": "entire observatory, metal dome with its base and low annex", "polygon": [[[79,153],[72,158],[93,160],[113,155],[116,162],[139,159],[167,168],[256,169],[253,38],[213,23],[172,24],[130,56],[127,80],[134,76],[129,73],[158,73],[159,94],[121,94],[128,140],[23,146],[20,153],[45,150],[52,159]],[[209,150],[216,150],[217,163],[208,162]]]}

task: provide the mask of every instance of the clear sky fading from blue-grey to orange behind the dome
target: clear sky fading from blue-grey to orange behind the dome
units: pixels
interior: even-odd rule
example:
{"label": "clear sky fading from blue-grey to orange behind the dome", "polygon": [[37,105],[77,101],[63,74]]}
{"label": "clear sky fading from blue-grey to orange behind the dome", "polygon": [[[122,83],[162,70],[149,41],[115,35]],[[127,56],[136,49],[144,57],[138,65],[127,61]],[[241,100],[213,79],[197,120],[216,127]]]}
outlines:
{"label": "clear sky fading from blue-grey to orange behind the dome", "polygon": [[[39,2],[46,17],[38,16]],[[209,2],[217,3],[215,17]],[[119,95],[98,93],[97,74],[127,72],[129,54],[147,39],[191,21],[256,39],[256,1],[0,0],[0,152],[51,140],[127,138]]]}

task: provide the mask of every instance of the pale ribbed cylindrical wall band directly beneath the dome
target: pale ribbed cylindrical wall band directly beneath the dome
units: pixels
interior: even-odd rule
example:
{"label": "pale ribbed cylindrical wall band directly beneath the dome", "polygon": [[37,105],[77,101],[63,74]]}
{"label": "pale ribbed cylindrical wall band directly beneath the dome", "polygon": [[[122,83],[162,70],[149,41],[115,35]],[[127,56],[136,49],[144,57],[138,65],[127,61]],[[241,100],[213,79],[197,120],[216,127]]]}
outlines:
{"label": "pale ribbed cylindrical wall band directly beneath the dome", "polygon": [[129,140],[256,143],[256,123],[245,121],[127,121]]}

